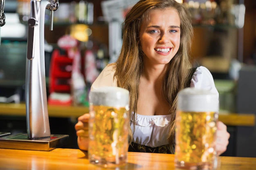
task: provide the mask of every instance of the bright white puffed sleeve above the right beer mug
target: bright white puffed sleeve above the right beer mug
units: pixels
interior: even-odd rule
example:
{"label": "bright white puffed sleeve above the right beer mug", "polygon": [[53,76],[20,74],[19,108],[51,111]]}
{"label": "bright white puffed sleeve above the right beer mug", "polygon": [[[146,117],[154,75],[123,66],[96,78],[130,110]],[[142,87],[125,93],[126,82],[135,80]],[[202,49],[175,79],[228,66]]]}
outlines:
{"label": "bright white puffed sleeve above the right beer mug", "polygon": [[212,93],[218,93],[211,72],[204,66],[199,66],[193,73],[190,87],[202,88]]}

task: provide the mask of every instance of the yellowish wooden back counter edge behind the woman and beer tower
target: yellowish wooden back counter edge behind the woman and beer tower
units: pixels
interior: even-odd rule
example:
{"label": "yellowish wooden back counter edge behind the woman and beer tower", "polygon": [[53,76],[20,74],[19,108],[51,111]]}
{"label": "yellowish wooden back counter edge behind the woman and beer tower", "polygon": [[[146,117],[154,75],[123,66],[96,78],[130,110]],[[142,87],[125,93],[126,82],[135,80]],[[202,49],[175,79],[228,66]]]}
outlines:
{"label": "yellowish wooden back counter edge behind the woman and beer tower", "polygon": [[[49,117],[79,117],[89,113],[87,107],[48,106]],[[0,104],[0,115],[26,116],[25,104]],[[228,126],[255,126],[254,114],[219,114],[219,120]]]}

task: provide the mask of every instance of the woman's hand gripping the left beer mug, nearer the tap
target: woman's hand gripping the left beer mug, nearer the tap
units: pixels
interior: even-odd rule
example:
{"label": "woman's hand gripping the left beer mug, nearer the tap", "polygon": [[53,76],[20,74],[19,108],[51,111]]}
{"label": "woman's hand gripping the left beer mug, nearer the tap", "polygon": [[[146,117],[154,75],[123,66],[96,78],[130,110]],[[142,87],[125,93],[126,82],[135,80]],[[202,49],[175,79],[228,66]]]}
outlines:
{"label": "woman's hand gripping the left beer mug, nearer the tap", "polygon": [[77,135],[77,144],[81,150],[88,150],[89,145],[89,121],[90,115],[88,113],[80,116],[78,122],[75,125],[76,135]]}

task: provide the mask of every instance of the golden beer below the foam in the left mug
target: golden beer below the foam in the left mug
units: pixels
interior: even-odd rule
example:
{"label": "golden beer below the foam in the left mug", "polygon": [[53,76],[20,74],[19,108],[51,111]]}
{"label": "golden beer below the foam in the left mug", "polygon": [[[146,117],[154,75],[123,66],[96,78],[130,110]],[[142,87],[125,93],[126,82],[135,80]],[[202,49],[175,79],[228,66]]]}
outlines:
{"label": "golden beer below the foam in the left mug", "polygon": [[[92,106],[90,119],[90,159],[103,164],[124,163],[128,151],[129,119],[126,108]],[[119,162],[116,162],[119,161]]]}

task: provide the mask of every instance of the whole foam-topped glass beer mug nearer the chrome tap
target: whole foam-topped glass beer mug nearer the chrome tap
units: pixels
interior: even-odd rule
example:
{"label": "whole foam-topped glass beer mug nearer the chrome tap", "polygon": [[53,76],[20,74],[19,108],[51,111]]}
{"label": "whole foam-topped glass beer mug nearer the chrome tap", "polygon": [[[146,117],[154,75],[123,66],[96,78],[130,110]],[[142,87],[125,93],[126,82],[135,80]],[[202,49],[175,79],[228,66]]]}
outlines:
{"label": "whole foam-topped glass beer mug nearer the chrome tap", "polygon": [[129,91],[101,87],[90,92],[90,163],[111,167],[127,161]]}

